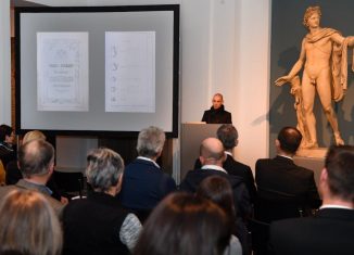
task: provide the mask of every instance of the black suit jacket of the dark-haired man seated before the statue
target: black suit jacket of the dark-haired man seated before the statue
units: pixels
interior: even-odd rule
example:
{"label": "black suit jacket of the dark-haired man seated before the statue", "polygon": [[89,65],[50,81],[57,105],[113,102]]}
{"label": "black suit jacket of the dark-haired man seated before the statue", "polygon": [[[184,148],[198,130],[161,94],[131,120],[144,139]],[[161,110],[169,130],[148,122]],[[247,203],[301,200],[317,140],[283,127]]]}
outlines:
{"label": "black suit jacket of the dark-haired man seated before the statue", "polygon": [[320,205],[314,173],[296,166],[290,158],[276,156],[258,160],[255,165],[255,182],[258,200],[277,201],[281,200],[278,194],[286,194],[306,207],[317,208]]}

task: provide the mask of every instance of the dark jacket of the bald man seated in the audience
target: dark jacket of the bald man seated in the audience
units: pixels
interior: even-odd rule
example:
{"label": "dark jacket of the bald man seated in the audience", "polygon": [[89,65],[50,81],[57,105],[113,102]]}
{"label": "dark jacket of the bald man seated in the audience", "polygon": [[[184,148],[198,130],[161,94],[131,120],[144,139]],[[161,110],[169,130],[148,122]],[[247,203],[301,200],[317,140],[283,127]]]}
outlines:
{"label": "dark jacket of the bald man seated in the audience", "polygon": [[190,170],[187,173],[184,181],[180,183],[180,190],[194,193],[202,180],[214,175],[222,176],[230,181],[233,191],[233,200],[237,207],[237,214],[242,218],[250,216],[252,212],[250,195],[242,178],[240,177],[230,176],[226,173],[215,169]]}

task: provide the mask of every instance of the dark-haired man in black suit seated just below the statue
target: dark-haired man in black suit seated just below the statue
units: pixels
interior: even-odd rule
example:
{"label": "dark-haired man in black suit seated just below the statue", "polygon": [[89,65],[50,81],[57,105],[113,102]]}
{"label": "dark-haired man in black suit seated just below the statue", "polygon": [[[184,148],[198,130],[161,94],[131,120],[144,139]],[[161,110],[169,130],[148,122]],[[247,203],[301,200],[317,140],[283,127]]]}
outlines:
{"label": "dark-haired man in black suit seated just below the statue", "polygon": [[[302,208],[317,208],[320,204],[314,171],[294,164],[293,156],[301,143],[302,136],[296,128],[285,127],[276,140],[277,156],[258,160],[255,165],[257,200],[264,204],[255,206],[255,217],[262,221],[289,217],[300,217]],[[270,202],[277,204],[276,212],[270,212]],[[281,204],[279,203],[281,202]],[[286,204],[293,206],[293,212]]]}

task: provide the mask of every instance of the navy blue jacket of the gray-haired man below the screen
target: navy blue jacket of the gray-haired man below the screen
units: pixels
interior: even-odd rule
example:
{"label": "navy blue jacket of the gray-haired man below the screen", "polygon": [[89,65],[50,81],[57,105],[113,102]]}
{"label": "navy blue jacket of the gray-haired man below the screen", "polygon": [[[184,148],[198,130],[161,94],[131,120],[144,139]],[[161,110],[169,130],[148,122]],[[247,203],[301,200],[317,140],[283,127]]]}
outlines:
{"label": "navy blue jacket of the gray-haired man below the screen", "polygon": [[118,200],[126,208],[152,209],[175,190],[176,182],[172,177],[152,162],[137,158],[125,168]]}

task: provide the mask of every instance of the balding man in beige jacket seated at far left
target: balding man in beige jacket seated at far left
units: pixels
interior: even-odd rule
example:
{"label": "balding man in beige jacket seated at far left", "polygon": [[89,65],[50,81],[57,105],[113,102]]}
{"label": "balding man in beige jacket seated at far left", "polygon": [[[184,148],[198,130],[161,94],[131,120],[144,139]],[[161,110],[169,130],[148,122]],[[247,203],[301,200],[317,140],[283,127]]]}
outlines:
{"label": "balding man in beige jacket seated at far left", "polygon": [[1,187],[0,197],[14,189],[36,190],[46,195],[60,216],[64,205],[50,196],[52,191],[46,186],[54,169],[54,148],[43,140],[24,143],[18,149],[18,167],[23,179],[16,184]]}

